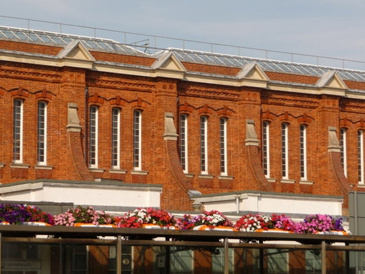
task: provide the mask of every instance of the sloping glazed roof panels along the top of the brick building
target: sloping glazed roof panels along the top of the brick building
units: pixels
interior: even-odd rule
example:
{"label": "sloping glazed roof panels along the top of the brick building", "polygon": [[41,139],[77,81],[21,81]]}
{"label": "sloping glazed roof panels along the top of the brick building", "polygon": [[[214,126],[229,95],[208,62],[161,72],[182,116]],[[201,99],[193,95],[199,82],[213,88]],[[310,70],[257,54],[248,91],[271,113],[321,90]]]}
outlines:
{"label": "sloping glazed roof panels along the top of the brick building", "polygon": [[[137,49],[134,45],[126,45],[116,40],[95,38],[88,36],[77,36],[73,34],[60,34],[56,32],[44,32],[34,29],[23,29],[16,27],[0,26],[0,38],[11,40],[25,40],[37,43],[47,43],[53,45],[68,45],[70,42],[79,40],[87,49],[114,51],[130,55],[144,55],[146,57],[157,58],[159,55],[172,51],[180,62],[197,62],[201,64],[211,64],[217,66],[230,66],[242,68],[245,64],[257,62],[264,71],[279,73],[293,73],[300,75],[312,75],[320,77],[327,71],[336,71],[341,79],[364,82],[365,71],[339,69],[331,66],[318,66],[313,64],[301,64],[297,62],[284,62],[268,60],[264,58],[250,58],[239,55],[228,55],[220,53],[210,53],[206,51],[194,51],[187,49],[177,49],[169,47],[157,53],[149,54]],[[145,48],[147,49],[147,48]]]}

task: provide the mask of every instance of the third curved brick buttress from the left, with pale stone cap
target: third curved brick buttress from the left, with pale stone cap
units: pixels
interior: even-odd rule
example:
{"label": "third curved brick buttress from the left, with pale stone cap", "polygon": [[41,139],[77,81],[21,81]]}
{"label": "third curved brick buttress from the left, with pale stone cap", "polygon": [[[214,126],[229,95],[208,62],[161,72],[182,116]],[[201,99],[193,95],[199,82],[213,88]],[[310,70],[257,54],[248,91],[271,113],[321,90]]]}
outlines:
{"label": "third curved brick buttress from the left, with pale stone cap", "polygon": [[260,150],[259,150],[259,140],[257,139],[257,134],[255,132],[255,123],[253,120],[247,120],[247,133],[246,140],[244,140],[247,147],[247,164],[251,166],[251,171],[255,177],[256,183],[260,190],[264,191],[275,191],[273,186],[268,182],[268,179],[264,175],[262,169],[262,163],[260,162]]}

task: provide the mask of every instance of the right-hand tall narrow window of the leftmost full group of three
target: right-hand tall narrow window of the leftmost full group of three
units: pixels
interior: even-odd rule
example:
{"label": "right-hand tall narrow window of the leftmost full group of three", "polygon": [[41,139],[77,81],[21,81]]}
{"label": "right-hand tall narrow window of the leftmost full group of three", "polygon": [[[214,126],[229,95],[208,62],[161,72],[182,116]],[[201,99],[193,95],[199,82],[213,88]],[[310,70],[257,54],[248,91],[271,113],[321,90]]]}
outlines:
{"label": "right-hand tall narrow window of the leftmost full group of three", "polygon": [[133,114],[133,167],[140,171],[142,164],[142,112],[134,110]]}

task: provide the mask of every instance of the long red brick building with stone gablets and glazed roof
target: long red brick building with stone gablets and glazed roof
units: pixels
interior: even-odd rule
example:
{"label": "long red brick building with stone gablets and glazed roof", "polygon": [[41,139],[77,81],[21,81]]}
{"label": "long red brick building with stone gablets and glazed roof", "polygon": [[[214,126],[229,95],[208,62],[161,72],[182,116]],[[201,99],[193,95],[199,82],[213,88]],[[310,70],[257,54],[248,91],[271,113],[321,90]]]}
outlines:
{"label": "long red brick building with stone gablets and glazed roof", "polygon": [[199,192],[339,195],[344,214],[365,190],[364,71],[24,34],[0,32],[1,184],[162,184],[168,210]]}

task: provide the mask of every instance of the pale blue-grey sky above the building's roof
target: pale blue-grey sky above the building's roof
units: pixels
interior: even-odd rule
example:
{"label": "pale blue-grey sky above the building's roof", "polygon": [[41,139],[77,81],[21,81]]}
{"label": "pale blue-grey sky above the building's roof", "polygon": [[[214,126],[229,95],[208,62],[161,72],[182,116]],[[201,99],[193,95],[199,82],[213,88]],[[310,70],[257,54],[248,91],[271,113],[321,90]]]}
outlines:
{"label": "pale blue-grey sky above the building's roof", "polygon": [[[0,12],[1,16],[365,62],[364,14],[364,0],[12,0],[4,1]],[[26,27],[27,21],[0,17],[0,25]],[[42,23],[31,22],[30,27],[49,30]],[[58,31],[59,26],[53,28]],[[66,30],[92,36],[84,31]],[[249,50],[240,54],[262,57]]]}

